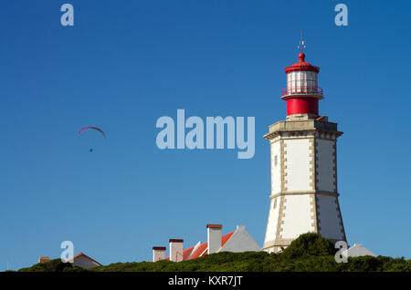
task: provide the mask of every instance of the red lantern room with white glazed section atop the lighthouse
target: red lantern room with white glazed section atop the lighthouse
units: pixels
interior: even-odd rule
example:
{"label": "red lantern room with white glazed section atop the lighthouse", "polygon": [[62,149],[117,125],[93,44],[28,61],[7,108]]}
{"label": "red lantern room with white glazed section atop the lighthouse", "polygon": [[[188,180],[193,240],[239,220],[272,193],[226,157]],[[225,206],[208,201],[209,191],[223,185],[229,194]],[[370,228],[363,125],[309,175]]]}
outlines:
{"label": "red lantern room with white glazed section atop the lighthouse", "polygon": [[318,117],[318,100],[322,97],[322,88],[318,88],[320,67],[311,66],[305,61],[305,54],[299,54],[300,61],[285,68],[287,88],[283,88],[281,98],[287,101],[287,119],[291,116]]}

